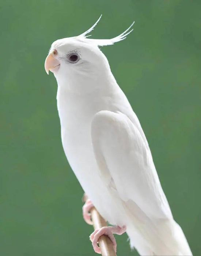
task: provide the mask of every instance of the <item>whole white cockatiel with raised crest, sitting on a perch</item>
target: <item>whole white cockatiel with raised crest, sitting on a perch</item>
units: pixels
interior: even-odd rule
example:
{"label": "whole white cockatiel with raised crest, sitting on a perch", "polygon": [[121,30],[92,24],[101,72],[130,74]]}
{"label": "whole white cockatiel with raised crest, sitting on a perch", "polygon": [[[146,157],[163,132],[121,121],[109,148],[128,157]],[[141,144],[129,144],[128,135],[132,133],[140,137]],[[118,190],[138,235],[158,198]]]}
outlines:
{"label": "whole white cockatiel with raised crest, sitting on a perch", "polygon": [[87,38],[98,21],[79,36],[53,42],[45,60],[46,72],[52,71],[58,84],[67,159],[91,199],[88,206],[94,204],[114,225],[94,231],[94,249],[99,252],[103,233],[115,246],[112,233],[126,231],[140,255],[192,255],[172,217],[140,122],[98,48],[125,39],[133,24],[112,39]]}

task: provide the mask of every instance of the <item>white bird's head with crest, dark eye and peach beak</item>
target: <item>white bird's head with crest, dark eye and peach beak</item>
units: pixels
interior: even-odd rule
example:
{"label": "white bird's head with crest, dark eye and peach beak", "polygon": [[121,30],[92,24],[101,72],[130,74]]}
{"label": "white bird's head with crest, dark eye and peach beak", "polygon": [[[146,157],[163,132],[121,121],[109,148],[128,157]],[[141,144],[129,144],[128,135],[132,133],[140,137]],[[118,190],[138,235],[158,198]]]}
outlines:
{"label": "white bird's head with crest, dark eye and peach beak", "polygon": [[109,64],[105,55],[99,49],[99,46],[112,45],[115,42],[126,38],[132,30],[132,25],[122,34],[111,39],[89,39],[87,34],[90,33],[96,23],[86,32],[76,37],[68,37],[58,39],[53,42],[49,54],[45,60],[45,70],[49,74],[49,70],[59,80],[72,80],[73,78],[81,78],[89,76],[97,77],[97,72],[108,69]]}

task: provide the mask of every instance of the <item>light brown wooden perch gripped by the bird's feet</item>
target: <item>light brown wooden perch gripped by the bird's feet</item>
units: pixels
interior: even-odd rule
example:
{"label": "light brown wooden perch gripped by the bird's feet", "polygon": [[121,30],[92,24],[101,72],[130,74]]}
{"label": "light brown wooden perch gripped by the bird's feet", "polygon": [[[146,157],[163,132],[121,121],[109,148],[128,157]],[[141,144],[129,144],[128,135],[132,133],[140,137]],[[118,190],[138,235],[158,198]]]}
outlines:
{"label": "light brown wooden perch gripped by the bird's feet", "polygon": [[[86,202],[87,196],[83,196],[83,202]],[[106,227],[107,223],[105,219],[99,214],[95,207],[91,208],[90,210],[91,220],[93,222],[94,230],[100,229],[101,227]],[[98,240],[98,245],[101,249],[102,256],[117,256],[114,251],[113,243],[111,242],[108,236],[101,236]]]}

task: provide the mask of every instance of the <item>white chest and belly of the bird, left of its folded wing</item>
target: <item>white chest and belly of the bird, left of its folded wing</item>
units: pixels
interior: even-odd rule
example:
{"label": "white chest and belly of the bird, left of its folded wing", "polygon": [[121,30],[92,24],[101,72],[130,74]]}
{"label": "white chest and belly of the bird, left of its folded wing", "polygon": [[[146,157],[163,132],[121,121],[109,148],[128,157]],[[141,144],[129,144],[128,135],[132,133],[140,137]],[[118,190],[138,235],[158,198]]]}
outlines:
{"label": "white chest and belly of the bird, left of its folded wing", "polygon": [[124,225],[122,213],[119,214],[124,211],[121,209],[121,200],[115,196],[115,192],[111,191],[100,176],[92,146],[91,121],[99,110],[94,109],[94,113],[87,114],[83,109],[78,110],[77,106],[70,111],[65,105],[64,110],[64,105],[61,107],[58,103],[58,112],[61,121],[62,145],[68,162],[81,187],[101,215],[110,223]]}

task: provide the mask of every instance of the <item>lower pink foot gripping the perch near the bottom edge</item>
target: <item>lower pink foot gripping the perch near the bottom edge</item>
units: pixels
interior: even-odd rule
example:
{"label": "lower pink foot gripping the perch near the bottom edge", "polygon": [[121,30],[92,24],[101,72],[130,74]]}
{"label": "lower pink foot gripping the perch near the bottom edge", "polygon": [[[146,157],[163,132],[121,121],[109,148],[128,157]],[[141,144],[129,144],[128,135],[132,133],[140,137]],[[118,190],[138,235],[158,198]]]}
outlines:
{"label": "lower pink foot gripping the perch near the bottom edge", "polygon": [[98,247],[98,240],[102,235],[106,235],[110,238],[113,243],[114,251],[117,252],[117,243],[113,234],[121,235],[126,231],[126,226],[119,227],[102,227],[101,229],[96,229],[90,236],[92,246],[96,253],[101,253],[101,249]]}

